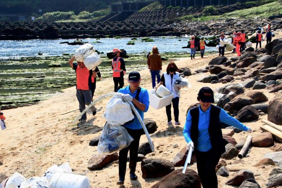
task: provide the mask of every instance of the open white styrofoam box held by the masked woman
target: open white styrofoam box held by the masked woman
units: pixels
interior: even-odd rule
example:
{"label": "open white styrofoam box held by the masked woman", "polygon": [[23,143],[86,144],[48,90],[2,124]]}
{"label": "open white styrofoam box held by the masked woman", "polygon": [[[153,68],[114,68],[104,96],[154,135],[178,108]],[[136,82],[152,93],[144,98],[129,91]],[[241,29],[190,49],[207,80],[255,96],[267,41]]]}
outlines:
{"label": "open white styrofoam box held by the masked woman", "polygon": [[150,106],[152,106],[155,109],[160,109],[162,107],[165,107],[171,103],[171,100],[173,98],[173,93],[171,92],[170,95],[167,95],[166,97],[160,98],[156,94],[156,90],[152,89],[149,91],[149,101]]}

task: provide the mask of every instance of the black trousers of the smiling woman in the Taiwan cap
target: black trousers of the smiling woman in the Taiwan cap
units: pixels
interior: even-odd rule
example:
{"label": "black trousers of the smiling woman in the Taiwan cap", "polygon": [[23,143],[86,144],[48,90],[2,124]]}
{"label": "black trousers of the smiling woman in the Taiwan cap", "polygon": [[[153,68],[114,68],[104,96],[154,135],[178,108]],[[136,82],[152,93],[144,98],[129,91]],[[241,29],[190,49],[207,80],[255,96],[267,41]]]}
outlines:
{"label": "black trousers of the smiling woman in the Taiwan cap", "polygon": [[209,150],[200,152],[196,150],[197,169],[203,188],[218,188],[215,167],[221,154]]}

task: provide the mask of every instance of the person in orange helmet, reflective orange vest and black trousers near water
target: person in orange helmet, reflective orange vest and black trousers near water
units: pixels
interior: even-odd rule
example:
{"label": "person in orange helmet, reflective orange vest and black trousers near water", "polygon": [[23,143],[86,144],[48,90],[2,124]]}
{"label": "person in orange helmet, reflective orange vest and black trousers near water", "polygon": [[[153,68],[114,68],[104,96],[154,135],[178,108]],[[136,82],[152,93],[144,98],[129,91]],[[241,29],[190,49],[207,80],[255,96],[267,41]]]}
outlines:
{"label": "person in orange helmet, reflective orange vest and black trousers near water", "polygon": [[113,80],[115,83],[114,91],[117,92],[124,85],[123,76],[126,73],[126,69],[125,69],[124,60],[123,58],[120,57],[120,50],[118,48],[114,48],[113,54],[115,56],[112,59]]}

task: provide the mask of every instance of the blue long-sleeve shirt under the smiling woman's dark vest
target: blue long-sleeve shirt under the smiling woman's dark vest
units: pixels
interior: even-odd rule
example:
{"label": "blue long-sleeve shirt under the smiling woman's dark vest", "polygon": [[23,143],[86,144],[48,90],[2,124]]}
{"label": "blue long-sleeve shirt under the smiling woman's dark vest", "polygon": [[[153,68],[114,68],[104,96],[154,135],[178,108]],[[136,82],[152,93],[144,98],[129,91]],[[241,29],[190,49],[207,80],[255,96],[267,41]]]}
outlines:
{"label": "blue long-sleeve shirt under the smiling woman's dark vest", "polygon": [[[207,152],[210,149],[212,149],[211,140],[209,138],[209,118],[210,118],[210,110],[211,106],[204,112],[201,110],[201,107],[199,105],[199,136],[198,136],[198,144],[197,144],[197,150],[201,152]],[[220,122],[226,123],[230,126],[234,126],[238,129],[247,131],[248,128],[246,125],[242,124],[238,120],[236,120],[234,117],[228,115],[222,108],[219,113],[219,120]],[[212,124],[211,124],[212,125]],[[183,129],[183,135],[187,143],[192,142],[191,140],[191,126],[192,126],[192,116],[190,114],[190,110],[188,111],[186,122]],[[210,127],[212,128],[212,127]]]}

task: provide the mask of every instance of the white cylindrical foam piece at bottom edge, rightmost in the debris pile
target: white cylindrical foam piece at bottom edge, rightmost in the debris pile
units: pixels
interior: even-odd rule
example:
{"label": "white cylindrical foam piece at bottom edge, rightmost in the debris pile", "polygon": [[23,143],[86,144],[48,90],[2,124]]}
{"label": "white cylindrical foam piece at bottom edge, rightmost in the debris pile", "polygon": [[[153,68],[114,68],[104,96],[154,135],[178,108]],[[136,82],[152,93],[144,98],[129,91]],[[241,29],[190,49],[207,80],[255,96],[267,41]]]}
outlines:
{"label": "white cylindrical foam piece at bottom edge, rightmost in the debris pile", "polygon": [[51,179],[50,188],[90,188],[87,176],[56,173]]}

